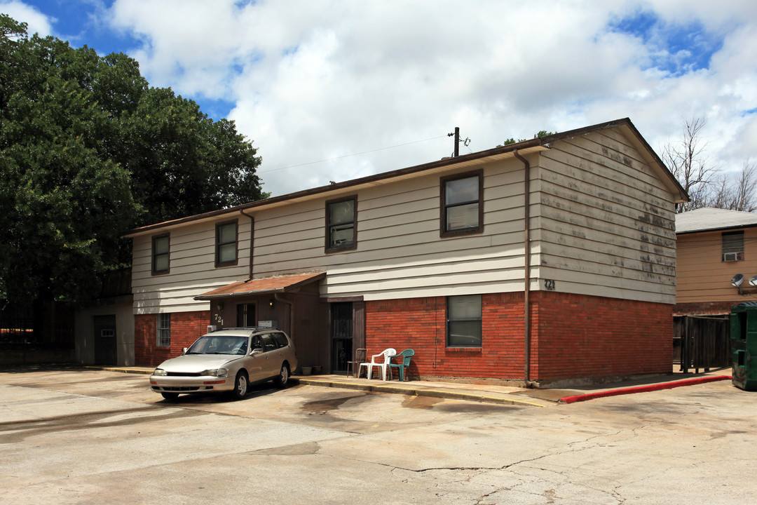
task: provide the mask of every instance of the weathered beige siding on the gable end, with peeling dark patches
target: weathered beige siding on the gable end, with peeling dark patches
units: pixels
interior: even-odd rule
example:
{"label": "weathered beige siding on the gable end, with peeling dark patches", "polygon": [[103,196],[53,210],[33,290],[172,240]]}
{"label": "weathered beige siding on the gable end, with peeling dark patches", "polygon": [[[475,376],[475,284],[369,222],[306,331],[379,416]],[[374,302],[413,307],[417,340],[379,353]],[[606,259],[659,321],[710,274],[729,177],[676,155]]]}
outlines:
{"label": "weathered beige siding on the gable end, with peeling dark patches", "polygon": [[540,155],[540,288],[673,304],[672,196],[615,130]]}

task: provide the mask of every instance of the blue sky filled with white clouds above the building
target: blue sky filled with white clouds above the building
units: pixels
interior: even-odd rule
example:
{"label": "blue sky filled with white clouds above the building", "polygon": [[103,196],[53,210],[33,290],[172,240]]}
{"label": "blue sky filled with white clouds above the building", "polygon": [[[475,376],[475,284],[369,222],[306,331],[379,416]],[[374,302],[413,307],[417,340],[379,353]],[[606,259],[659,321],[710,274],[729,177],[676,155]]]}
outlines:
{"label": "blue sky filled with white clouds above the building", "polygon": [[0,12],[235,120],[282,195],[630,117],[658,153],[706,120],[757,161],[754,0],[0,0]]}

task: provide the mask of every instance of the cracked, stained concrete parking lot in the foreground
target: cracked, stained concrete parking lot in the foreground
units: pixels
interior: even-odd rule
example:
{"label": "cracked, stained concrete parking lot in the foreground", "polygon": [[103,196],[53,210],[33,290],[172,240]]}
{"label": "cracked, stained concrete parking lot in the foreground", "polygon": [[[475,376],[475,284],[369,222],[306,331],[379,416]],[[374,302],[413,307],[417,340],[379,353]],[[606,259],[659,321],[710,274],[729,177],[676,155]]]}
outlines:
{"label": "cracked, stained concrete parking lot in the foreground", "polygon": [[0,503],[757,503],[729,381],[549,407],[0,371]]}

